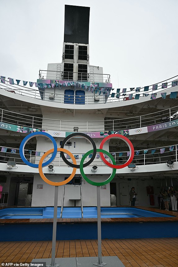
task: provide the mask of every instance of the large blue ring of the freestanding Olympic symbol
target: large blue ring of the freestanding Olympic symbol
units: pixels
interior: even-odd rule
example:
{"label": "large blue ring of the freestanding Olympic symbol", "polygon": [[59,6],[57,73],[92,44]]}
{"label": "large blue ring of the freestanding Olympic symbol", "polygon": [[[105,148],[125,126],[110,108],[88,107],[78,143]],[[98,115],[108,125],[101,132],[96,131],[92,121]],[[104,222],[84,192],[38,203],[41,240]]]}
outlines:
{"label": "large blue ring of the freestanding Olympic symbol", "polygon": [[26,143],[28,142],[28,140],[31,139],[33,136],[42,136],[42,135],[44,135],[47,138],[51,139],[51,141],[52,141],[52,143],[54,145],[54,152],[52,154],[52,157],[47,162],[44,162],[42,164],[42,167],[47,166],[48,164],[50,164],[56,158],[57,144],[56,144],[55,139],[50,134],[48,134],[46,132],[33,132],[33,133],[29,134],[28,136],[25,136],[25,138],[22,140],[22,142],[20,144],[20,149],[19,149],[20,157],[23,160],[23,162],[25,164],[27,164],[28,166],[33,167],[33,168],[38,168],[38,164],[31,163],[25,158],[25,156],[24,156],[24,147],[25,147]]}

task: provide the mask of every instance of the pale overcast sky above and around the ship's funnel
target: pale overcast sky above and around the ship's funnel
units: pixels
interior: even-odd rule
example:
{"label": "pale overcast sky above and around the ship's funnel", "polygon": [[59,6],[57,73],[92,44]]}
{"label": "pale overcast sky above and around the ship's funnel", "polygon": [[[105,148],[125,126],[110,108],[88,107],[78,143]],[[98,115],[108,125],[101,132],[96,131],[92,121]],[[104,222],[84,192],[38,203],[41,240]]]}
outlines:
{"label": "pale overcast sky above and around the ship's funnel", "polygon": [[1,0],[0,75],[36,82],[62,62],[65,4],[90,7],[90,65],[113,88],[142,87],[178,74],[177,0]]}

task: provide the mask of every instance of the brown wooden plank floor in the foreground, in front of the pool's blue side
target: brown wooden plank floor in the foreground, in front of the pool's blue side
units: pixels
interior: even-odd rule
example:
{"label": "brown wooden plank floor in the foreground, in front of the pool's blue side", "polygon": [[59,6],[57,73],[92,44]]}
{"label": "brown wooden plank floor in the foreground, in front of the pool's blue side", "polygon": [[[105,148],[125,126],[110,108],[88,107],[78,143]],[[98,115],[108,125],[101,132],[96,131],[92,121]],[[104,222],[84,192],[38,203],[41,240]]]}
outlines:
{"label": "brown wooden plank floor in the foreground, in front of the pool's blue side", "polygon": [[[50,258],[52,242],[2,242],[0,262]],[[56,242],[56,258],[97,256],[97,240]],[[118,256],[126,267],[177,267],[178,238],[102,240],[103,256]]]}

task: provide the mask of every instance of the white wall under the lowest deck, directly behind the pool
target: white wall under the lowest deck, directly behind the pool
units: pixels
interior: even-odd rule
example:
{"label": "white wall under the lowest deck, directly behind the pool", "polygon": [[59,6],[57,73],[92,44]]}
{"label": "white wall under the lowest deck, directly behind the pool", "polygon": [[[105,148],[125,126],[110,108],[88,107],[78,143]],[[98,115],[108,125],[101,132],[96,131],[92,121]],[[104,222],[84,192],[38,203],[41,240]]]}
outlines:
{"label": "white wall under the lowest deck, directly behind the pool", "polygon": [[[47,176],[52,181],[60,182],[65,179],[65,175]],[[93,179],[91,176],[88,178]],[[106,177],[105,177],[106,178]],[[95,181],[105,179],[97,176]],[[37,184],[42,184],[43,189],[37,189]],[[32,207],[40,206],[54,206],[54,191],[55,187],[45,183],[39,175],[34,176],[33,180],[33,195]],[[58,193],[58,206],[61,206],[63,186],[59,186]],[[82,193],[83,193],[83,206],[97,206],[96,186],[90,185],[82,179]],[[65,186],[65,200],[64,206],[74,206],[74,201],[71,198],[80,198],[79,185],[66,185]],[[110,206],[110,186],[106,185],[106,189],[101,190],[101,205]],[[76,206],[80,206],[80,201],[76,202]]]}

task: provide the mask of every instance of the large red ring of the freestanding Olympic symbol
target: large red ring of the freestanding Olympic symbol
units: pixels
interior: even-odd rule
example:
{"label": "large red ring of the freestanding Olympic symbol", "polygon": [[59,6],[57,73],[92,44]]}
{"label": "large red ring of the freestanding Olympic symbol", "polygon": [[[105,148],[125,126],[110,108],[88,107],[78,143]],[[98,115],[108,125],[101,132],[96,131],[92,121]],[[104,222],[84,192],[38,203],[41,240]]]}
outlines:
{"label": "large red ring of the freestanding Olympic symbol", "polygon": [[109,163],[109,162],[105,159],[105,157],[104,157],[104,155],[103,155],[102,152],[99,152],[99,154],[100,154],[100,158],[102,159],[102,161],[103,161],[107,166],[109,166],[109,167],[111,167],[111,168],[114,168],[114,169],[122,169],[122,168],[124,168],[124,167],[127,167],[127,166],[132,162],[132,159],[133,159],[133,157],[134,157],[134,147],[133,147],[131,141],[130,141],[127,137],[122,136],[122,135],[120,135],[120,134],[112,134],[112,135],[106,136],[106,137],[101,141],[100,149],[103,149],[103,145],[104,145],[104,143],[105,143],[108,139],[113,138],[113,137],[117,137],[117,138],[119,138],[119,139],[122,139],[124,142],[127,143],[127,145],[129,146],[129,150],[130,150],[130,156],[129,156],[129,159],[127,160],[126,163],[124,163],[124,164],[122,164],[122,165],[113,165],[113,164]]}

